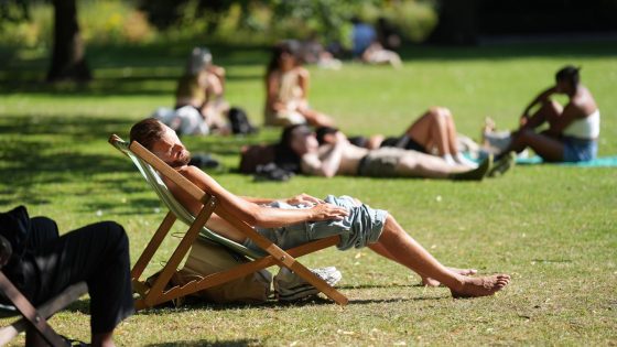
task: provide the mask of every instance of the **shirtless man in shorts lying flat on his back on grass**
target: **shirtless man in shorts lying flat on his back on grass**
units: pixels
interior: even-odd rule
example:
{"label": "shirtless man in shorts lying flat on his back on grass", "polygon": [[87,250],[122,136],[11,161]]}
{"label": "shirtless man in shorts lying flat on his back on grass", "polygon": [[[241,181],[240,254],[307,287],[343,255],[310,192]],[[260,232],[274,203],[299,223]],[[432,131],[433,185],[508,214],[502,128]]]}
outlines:
{"label": "shirtless man in shorts lying flat on his back on grass", "polygon": [[[382,147],[375,150],[351,144],[347,137],[336,131],[324,138],[320,145],[314,132],[305,126],[285,128],[281,135],[277,164],[308,175],[370,177],[425,177],[481,181],[504,162],[492,164],[489,155],[477,167],[448,163],[443,158],[414,150]],[[508,165],[510,167],[511,165]]]}

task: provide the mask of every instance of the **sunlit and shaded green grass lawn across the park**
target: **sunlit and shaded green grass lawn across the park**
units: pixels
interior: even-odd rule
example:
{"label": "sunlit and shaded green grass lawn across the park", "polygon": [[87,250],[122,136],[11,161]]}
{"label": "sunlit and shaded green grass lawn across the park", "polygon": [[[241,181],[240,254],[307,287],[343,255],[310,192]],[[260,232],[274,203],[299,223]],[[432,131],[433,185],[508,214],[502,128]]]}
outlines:
{"label": "sunlit and shaded green grass lawn across the park", "polygon": [[[111,133],[159,106],[173,104],[187,44],[88,47],[96,80],[46,86],[40,52],[0,48],[0,210],[26,205],[67,231],[112,219],[122,224],[134,261],[165,210],[132,164],[112,149]],[[260,123],[267,51],[213,46],[228,72],[227,98]],[[350,134],[398,134],[432,105],[452,109],[458,130],[477,139],[484,118],[517,123],[531,98],[564,64],[582,65],[582,80],[602,110],[599,154],[617,154],[617,46],[537,44],[422,47],[404,67],[345,64],[311,67],[310,99]],[[447,265],[510,273],[495,297],[452,300],[367,249],[328,249],[305,258],[336,265],[350,303],[204,304],[140,312],[118,327],[122,346],[201,345],[615,345],[617,340],[617,171],[556,165],[517,166],[481,183],[296,176],[255,183],[234,172],[245,143],[277,139],[186,138],[225,169],[212,172],[234,193],[285,197],[348,194],[388,209]],[[181,229],[178,229],[181,230]],[[164,261],[173,247],[155,257]],[[158,267],[147,272],[154,272]],[[2,319],[2,323],[9,322]],[[52,319],[57,330],[89,340],[88,300]],[[21,337],[15,345],[23,344]]]}

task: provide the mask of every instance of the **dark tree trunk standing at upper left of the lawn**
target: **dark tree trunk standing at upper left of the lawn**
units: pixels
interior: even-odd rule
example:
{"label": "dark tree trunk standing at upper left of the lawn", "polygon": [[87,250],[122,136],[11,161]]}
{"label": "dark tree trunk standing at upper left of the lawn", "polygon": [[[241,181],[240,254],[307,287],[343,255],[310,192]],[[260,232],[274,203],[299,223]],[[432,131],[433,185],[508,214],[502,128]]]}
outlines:
{"label": "dark tree trunk standing at upper left of the lawn", "polygon": [[93,78],[77,23],[76,0],[54,0],[54,47],[47,82]]}

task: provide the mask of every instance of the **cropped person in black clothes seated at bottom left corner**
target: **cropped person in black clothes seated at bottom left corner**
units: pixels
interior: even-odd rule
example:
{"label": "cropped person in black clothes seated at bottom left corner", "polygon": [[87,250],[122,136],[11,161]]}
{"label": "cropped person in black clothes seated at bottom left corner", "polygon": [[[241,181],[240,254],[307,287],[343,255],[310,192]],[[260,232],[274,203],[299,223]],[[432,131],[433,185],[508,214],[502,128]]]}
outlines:
{"label": "cropped person in black clothes seated at bottom left corner", "polygon": [[[101,221],[59,236],[53,219],[30,218],[25,207],[19,206],[0,213],[0,235],[13,250],[2,272],[34,306],[72,284],[86,282],[91,344],[113,346],[113,329],[134,311],[129,239],[122,226]],[[25,346],[47,344],[29,329]]]}

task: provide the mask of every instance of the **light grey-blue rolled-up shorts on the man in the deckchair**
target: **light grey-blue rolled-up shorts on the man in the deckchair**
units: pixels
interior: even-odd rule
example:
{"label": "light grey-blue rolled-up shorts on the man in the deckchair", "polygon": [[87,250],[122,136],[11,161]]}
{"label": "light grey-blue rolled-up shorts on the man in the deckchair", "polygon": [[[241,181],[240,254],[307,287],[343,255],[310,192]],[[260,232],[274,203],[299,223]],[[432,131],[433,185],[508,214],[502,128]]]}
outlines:
{"label": "light grey-blue rolled-up shorts on the man in the deckchair", "polygon": [[[333,235],[340,236],[340,243],[337,246],[339,250],[353,247],[361,248],[379,239],[388,212],[374,209],[365,204],[356,205],[354,198],[349,196],[336,197],[328,195],[325,200],[326,203],[344,207],[349,212],[349,215],[342,220],[306,221],[288,227],[256,228],[256,230],[282,249],[290,249]],[[275,208],[308,208],[308,206],[292,206],[280,202],[273,203],[270,206]],[[245,246],[266,254],[250,239],[245,241]]]}

